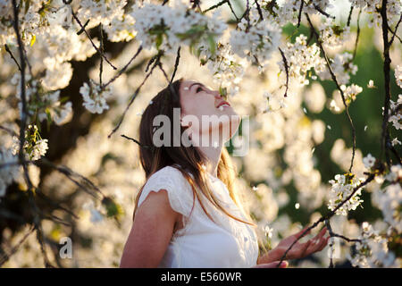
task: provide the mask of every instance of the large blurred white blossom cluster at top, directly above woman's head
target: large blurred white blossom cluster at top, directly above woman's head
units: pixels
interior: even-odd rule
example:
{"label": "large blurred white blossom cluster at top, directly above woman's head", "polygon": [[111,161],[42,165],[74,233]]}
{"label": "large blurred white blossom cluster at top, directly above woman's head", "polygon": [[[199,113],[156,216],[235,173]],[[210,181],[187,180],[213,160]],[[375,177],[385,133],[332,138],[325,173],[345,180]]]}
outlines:
{"label": "large blurred white blossom cluster at top, directly above woman's head", "polygon": [[135,19],[134,28],[141,45],[147,49],[156,47],[165,53],[176,53],[180,44],[191,48],[205,45],[214,54],[216,43],[227,25],[219,19],[219,11],[207,17],[189,9],[181,0],[166,5],[148,1],[132,5],[130,15]]}

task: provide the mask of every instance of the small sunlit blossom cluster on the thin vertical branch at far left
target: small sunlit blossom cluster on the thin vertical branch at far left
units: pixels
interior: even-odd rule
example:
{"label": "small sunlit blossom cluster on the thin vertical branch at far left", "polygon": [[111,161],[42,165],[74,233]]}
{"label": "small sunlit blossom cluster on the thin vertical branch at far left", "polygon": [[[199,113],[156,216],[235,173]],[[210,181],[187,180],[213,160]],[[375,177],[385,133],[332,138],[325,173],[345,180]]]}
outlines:
{"label": "small sunlit blossom cluster on the thin vertical branch at far left", "polygon": [[[37,125],[29,125],[25,130],[25,141],[23,149],[29,160],[39,160],[41,156],[46,155],[47,139],[40,137]],[[20,139],[13,137],[13,155],[20,152]]]}

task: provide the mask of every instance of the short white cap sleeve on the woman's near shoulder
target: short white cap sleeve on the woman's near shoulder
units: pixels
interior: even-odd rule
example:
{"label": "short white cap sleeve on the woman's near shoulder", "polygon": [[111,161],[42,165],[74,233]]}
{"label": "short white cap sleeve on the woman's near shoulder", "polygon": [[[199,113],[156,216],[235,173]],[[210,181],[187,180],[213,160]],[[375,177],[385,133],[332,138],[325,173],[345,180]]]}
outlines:
{"label": "short white cap sleeve on the woman's near shoulder", "polygon": [[191,186],[183,174],[171,166],[166,166],[149,177],[138,199],[138,206],[151,191],[158,192],[160,189],[166,189],[174,211],[189,216],[193,206]]}

